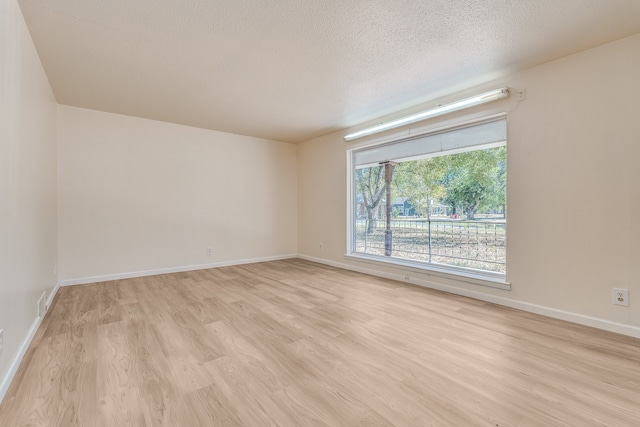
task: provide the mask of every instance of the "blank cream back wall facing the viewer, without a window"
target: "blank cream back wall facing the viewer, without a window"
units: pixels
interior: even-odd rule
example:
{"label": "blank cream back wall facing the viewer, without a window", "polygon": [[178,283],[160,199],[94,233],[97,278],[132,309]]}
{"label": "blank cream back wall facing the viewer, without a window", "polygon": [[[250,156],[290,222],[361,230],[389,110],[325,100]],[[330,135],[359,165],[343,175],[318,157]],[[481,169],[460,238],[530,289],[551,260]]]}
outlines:
{"label": "blank cream back wall facing the viewer, without a window", "polygon": [[296,151],[58,106],[61,280],[296,254]]}

